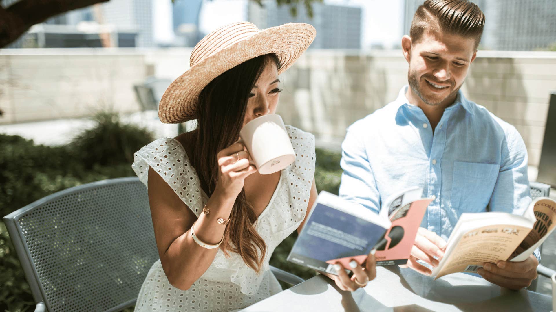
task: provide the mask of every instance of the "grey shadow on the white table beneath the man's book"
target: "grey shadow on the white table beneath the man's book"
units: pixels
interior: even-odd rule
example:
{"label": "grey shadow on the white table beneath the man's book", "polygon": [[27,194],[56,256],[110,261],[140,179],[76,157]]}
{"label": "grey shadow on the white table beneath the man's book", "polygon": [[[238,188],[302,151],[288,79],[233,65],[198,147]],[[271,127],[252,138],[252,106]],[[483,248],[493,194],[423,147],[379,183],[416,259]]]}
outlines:
{"label": "grey shadow on the white table beneath the man's book", "polygon": [[[503,288],[492,288],[487,285],[453,285],[444,279],[432,281],[433,278],[421,275],[415,271],[400,270],[398,266],[388,266],[386,269],[400,277],[400,283],[412,293],[444,304],[454,305],[461,311],[495,311],[508,301],[513,301],[514,311],[533,311],[529,301],[528,291],[513,291]],[[513,300],[522,297],[523,300]],[[421,307],[398,307],[395,311],[426,311]],[[420,309],[419,309],[420,308]]]}

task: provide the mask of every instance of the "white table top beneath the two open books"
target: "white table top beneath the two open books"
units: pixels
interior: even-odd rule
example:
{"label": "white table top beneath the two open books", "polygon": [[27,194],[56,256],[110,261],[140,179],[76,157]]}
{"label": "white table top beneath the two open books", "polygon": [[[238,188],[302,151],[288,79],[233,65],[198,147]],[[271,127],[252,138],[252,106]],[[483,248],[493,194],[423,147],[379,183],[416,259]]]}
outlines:
{"label": "white table top beneath the two open books", "polygon": [[552,298],[512,291],[469,274],[438,280],[398,266],[377,268],[377,277],[353,293],[322,275],[242,311],[551,311]]}

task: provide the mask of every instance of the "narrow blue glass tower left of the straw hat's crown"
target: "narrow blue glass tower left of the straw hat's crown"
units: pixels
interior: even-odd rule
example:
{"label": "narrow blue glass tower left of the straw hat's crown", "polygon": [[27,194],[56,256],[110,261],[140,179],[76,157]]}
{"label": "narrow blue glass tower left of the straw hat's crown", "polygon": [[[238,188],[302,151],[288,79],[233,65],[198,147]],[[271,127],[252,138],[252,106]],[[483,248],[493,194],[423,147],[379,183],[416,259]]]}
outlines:
{"label": "narrow blue glass tower left of the straw hat's crown", "polygon": [[202,39],[199,31],[199,14],[203,0],[175,0],[172,3],[173,31],[176,45],[195,47]]}

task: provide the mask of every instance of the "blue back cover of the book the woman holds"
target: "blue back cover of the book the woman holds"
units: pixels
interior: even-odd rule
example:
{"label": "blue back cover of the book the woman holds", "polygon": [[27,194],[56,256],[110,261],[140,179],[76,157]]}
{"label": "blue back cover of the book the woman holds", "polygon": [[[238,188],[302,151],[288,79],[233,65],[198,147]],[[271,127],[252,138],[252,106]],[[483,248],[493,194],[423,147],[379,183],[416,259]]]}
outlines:
{"label": "blue back cover of the book the woman holds", "polygon": [[287,260],[337,274],[333,264],[363,263],[390,225],[360,204],[321,192]]}

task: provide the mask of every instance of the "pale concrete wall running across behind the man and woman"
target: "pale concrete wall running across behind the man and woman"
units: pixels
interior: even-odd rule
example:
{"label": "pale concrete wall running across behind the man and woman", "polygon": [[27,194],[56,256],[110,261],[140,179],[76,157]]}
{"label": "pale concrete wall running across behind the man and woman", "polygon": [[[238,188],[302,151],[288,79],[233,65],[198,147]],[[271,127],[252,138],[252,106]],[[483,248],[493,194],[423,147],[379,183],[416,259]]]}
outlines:
{"label": "pale concrete wall running across behind the man and woman", "polygon": [[[0,50],[0,124],[91,115],[98,109],[139,109],[132,86],[146,76],[176,78],[191,49]],[[278,113],[286,123],[339,148],[345,129],[394,100],[407,83],[400,51],[304,54],[282,74]],[[515,125],[537,166],[549,93],[556,90],[555,52],[480,51],[463,92]]]}

